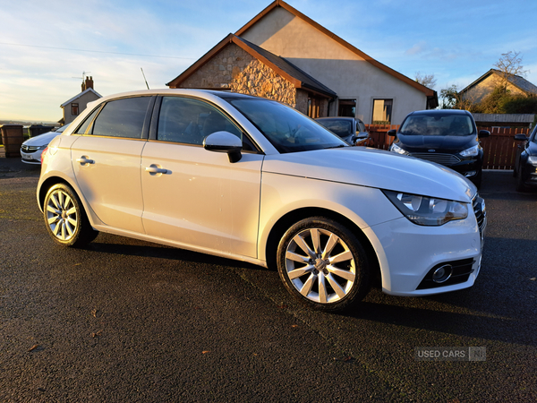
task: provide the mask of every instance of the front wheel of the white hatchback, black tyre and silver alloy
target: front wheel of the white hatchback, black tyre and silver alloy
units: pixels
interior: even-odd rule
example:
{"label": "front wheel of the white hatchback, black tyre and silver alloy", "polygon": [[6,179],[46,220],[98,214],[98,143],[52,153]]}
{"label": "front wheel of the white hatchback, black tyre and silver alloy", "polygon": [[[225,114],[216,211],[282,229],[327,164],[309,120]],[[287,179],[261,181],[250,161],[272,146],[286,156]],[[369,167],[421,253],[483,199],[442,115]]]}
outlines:
{"label": "front wheel of the white hatchback, black tyre and silver alloy", "polygon": [[277,248],[277,269],[287,290],[321,311],[339,311],[370,289],[370,266],[352,231],[312,217],[290,227]]}

